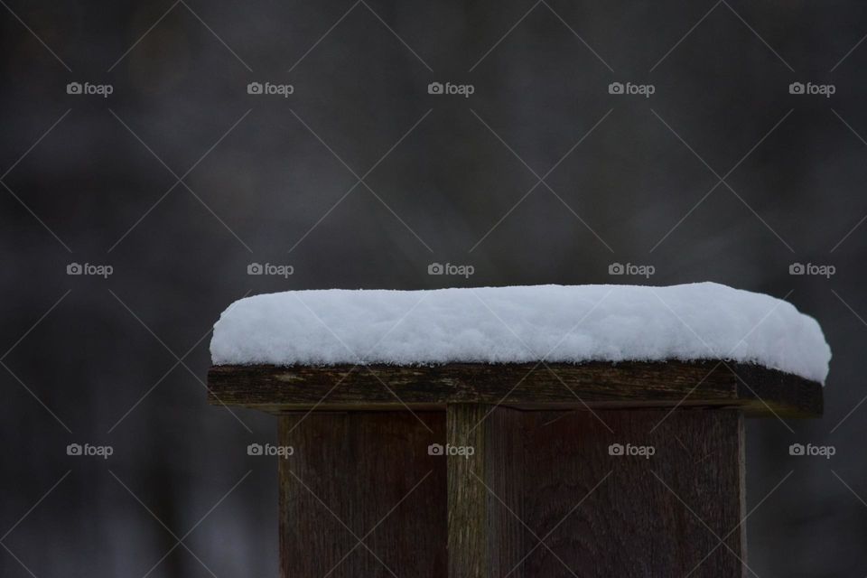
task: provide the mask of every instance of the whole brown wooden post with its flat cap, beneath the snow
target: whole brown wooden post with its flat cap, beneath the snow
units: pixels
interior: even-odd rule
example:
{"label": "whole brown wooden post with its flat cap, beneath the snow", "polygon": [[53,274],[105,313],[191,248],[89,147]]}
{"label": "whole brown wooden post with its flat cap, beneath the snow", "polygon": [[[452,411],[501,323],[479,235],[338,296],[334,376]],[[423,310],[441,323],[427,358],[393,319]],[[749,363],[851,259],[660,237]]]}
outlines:
{"label": "whole brown wooden post with its flat cap, beneath the snow", "polygon": [[217,367],[209,386],[294,448],[293,578],[742,578],[743,418],[822,413],[820,384],[714,361]]}

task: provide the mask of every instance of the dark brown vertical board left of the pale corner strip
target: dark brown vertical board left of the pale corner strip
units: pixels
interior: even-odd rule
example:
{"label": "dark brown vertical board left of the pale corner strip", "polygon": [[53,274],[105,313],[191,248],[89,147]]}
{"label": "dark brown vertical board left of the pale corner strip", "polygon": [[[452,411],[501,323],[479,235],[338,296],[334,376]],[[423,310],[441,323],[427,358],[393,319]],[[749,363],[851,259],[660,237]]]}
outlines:
{"label": "dark brown vertical board left of the pale corner strip", "polygon": [[294,448],[278,466],[281,575],[445,575],[446,462],[428,454],[445,415],[416,415],[426,427],[406,411],[279,418]]}

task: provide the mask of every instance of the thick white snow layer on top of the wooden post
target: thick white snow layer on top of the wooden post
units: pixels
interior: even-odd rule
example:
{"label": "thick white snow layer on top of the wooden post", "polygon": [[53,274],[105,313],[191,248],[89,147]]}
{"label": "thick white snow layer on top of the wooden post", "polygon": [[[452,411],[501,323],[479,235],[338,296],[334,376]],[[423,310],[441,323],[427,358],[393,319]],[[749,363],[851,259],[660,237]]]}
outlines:
{"label": "thick white snow layer on top of the wooden post", "polygon": [[215,365],[731,359],[824,383],[815,319],[722,284],[256,295],[214,325]]}

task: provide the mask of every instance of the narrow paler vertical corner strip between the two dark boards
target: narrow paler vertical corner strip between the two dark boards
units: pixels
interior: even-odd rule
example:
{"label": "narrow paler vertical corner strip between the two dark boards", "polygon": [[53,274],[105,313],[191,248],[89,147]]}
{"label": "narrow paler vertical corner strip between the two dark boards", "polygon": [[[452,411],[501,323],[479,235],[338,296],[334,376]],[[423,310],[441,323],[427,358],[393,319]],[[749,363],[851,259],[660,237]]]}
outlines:
{"label": "narrow paler vertical corner strip between the two dark boards", "polygon": [[[449,578],[506,575],[523,553],[523,415],[504,407],[450,404]],[[511,575],[522,578],[518,569]]]}

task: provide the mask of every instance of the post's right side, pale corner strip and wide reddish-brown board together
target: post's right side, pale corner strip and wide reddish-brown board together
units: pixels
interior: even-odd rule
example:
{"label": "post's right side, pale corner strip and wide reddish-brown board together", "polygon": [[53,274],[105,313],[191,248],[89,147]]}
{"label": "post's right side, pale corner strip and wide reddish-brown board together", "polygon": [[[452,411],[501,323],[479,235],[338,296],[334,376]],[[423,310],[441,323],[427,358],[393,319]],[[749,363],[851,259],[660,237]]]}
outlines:
{"label": "post's right side, pale corner strip and wide reddish-brown board together", "polygon": [[740,412],[488,411],[449,409],[449,578],[746,575]]}

